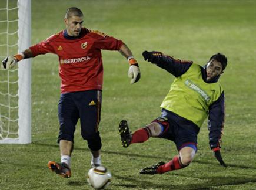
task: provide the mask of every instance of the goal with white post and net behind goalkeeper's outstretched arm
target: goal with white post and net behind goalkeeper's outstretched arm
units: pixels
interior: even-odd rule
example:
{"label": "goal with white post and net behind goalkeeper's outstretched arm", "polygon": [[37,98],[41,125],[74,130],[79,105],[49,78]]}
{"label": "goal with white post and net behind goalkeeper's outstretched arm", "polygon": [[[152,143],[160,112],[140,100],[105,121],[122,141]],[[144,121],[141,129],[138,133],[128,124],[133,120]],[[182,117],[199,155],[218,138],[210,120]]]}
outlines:
{"label": "goal with white post and net behind goalkeeper's outstretched arm", "polygon": [[[31,45],[31,0],[0,1],[0,60]],[[2,63],[1,63],[2,64]],[[31,143],[31,60],[0,69],[0,143]]]}

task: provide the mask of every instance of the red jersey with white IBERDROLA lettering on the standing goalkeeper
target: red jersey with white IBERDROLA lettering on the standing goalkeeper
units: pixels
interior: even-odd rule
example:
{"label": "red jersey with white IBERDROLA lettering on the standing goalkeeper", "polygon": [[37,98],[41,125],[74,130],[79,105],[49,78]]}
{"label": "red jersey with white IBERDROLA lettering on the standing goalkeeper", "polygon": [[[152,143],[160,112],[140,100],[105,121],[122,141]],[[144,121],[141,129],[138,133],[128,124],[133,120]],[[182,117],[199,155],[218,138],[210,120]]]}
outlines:
{"label": "red jersey with white IBERDROLA lettering on the standing goalkeeper", "polygon": [[31,46],[33,56],[55,53],[59,57],[61,93],[102,90],[101,49],[119,50],[123,42],[98,31],[82,28],[77,38],[63,30]]}

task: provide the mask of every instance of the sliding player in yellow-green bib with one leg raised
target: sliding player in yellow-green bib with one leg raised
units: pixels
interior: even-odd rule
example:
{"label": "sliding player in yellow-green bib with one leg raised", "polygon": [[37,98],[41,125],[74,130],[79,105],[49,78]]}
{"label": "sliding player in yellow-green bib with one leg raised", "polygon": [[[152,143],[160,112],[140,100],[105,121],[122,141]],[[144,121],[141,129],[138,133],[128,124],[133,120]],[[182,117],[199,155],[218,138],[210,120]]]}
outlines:
{"label": "sliding player in yellow-green bib with one leg raised", "polygon": [[161,52],[143,52],[145,60],[175,76],[171,89],[161,104],[162,114],[147,126],[131,134],[128,123],[122,120],[119,133],[123,147],[143,143],[150,137],[174,141],[179,154],[171,161],[159,162],[140,171],[141,174],[162,174],[187,167],[197,152],[197,135],[208,117],[209,143],[215,157],[222,160],[221,135],[224,126],[224,90],[218,82],[227,66],[227,57],[217,53],[201,67],[192,61],[174,59]]}

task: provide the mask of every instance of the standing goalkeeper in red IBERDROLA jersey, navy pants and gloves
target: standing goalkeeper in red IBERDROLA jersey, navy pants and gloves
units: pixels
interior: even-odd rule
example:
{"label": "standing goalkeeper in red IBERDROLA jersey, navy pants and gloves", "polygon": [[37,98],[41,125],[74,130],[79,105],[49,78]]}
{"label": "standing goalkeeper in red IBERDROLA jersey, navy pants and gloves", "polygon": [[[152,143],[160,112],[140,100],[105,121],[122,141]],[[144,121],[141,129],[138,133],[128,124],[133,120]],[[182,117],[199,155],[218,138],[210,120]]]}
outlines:
{"label": "standing goalkeeper in red IBERDROLA jersey, navy pants and gloves", "polygon": [[49,161],[48,167],[62,175],[71,177],[71,154],[74,145],[74,132],[80,119],[81,135],[87,140],[91,150],[91,165],[101,165],[101,137],[98,125],[101,116],[101,91],[103,65],[101,50],[119,51],[130,66],[128,77],[131,84],[140,78],[137,60],[131,50],[121,40],[104,33],[82,27],[83,13],[80,9],[69,8],[65,14],[66,29],[22,53],[6,57],[2,67],[10,69],[22,59],[28,59],[45,53],[55,53],[59,58],[59,76],[61,77],[61,97],[58,104],[61,162]]}

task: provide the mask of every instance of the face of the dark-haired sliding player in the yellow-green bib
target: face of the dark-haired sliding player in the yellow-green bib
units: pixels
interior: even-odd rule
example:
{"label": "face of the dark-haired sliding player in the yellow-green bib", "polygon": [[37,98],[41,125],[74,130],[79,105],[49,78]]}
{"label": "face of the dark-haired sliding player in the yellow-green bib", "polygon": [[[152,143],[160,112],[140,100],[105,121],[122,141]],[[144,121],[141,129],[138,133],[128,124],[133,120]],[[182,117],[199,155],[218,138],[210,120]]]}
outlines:
{"label": "face of the dark-haired sliding player in the yellow-green bib", "polygon": [[218,62],[215,59],[210,60],[210,62],[207,63],[206,67],[206,73],[207,73],[207,80],[211,80],[214,77],[222,74],[222,65],[220,62]]}

